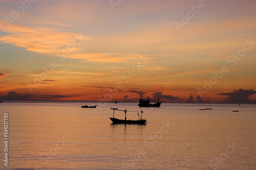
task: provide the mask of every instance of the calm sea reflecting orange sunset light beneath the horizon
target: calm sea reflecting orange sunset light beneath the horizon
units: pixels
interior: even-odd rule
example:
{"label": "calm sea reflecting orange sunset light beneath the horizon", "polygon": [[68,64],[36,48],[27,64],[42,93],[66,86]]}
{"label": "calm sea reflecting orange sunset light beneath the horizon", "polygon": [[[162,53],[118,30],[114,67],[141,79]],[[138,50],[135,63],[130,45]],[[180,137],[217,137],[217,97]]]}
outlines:
{"label": "calm sea reflecting orange sunset light beneath the horizon", "polygon": [[[4,102],[0,169],[256,169],[256,105]],[[111,108],[147,123],[113,125]]]}

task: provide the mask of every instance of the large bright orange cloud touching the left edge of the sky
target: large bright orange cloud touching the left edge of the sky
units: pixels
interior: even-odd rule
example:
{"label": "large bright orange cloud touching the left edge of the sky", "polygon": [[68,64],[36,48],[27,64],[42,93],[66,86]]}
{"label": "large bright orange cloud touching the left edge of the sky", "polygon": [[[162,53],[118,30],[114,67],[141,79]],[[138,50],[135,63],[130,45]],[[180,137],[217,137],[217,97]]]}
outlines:
{"label": "large bright orange cloud touching the left edge of the sky", "polygon": [[76,38],[73,33],[61,32],[53,28],[34,28],[15,23],[10,23],[10,27],[7,27],[4,20],[0,20],[0,30],[9,34],[0,37],[2,43],[11,43],[38,53],[56,54],[61,47],[73,44]]}

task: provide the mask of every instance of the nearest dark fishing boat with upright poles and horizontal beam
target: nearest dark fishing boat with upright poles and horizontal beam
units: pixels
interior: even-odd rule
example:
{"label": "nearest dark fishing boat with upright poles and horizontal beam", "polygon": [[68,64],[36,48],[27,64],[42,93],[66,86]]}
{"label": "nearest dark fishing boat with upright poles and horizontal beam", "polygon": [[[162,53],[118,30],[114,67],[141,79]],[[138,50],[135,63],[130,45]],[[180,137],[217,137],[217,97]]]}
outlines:
{"label": "nearest dark fishing boat with upright poles and horizontal beam", "polygon": [[[128,110],[119,110],[118,108],[111,108],[113,110],[113,117],[110,117],[111,121],[113,122],[113,124],[139,124],[139,125],[143,125],[146,123],[146,119],[142,118],[142,113],[143,111],[128,111]],[[115,110],[117,111],[123,111],[124,112],[124,119],[118,119],[115,118]],[[138,115],[138,120],[127,120],[126,118],[126,112],[137,112]],[[139,112],[141,112],[141,114],[139,114]]]}

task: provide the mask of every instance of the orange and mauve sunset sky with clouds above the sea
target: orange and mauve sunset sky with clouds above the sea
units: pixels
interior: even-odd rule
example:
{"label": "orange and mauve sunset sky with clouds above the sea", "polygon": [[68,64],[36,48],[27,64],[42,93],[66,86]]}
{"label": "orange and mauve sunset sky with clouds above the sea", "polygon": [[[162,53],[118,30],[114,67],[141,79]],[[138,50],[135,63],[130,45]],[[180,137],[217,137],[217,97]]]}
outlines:
{"label": "orange and mauve sunset sky with clouds above the sea", "polygon": [[0,0],[0,100],[256,103],[256,2]]}

